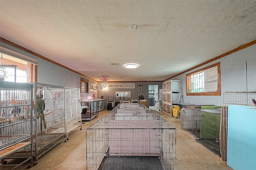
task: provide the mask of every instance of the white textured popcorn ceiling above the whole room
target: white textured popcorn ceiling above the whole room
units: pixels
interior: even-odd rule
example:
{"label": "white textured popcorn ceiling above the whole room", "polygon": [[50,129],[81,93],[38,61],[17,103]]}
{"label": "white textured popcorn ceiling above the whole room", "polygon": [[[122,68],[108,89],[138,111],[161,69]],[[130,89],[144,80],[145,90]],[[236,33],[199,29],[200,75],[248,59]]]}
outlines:
{"label": "white textured popcorn ceiling above the whole room", "polygon": [[254,41],[256,1],[0,0],[0,36],[97,81],[162,81]]}

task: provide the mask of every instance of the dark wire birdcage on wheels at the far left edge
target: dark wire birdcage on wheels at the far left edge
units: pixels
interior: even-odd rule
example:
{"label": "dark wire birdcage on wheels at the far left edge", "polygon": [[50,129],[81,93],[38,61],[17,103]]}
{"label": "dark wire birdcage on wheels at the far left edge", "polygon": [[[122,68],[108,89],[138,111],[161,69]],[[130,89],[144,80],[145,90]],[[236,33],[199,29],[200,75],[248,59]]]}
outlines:
{"label": "dark wire birdcage on wheels at the far left edge", "polygon": [[[2,166],[33,162],[32,85],[0,81],[0,160]],[[7,162],[8,160],[8,162]],[[14,169],[12,168],[12,169]]]}

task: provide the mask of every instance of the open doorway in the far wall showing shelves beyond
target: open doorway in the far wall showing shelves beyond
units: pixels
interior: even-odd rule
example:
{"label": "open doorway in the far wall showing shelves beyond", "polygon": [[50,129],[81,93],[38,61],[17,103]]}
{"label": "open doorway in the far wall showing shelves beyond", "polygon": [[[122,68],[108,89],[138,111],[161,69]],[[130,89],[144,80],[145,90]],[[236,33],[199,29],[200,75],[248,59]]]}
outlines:
{"label": "open doorway in the far wall showing shelves beyond", "polygon": [[158,85],[148,85],[148,108],[158,109]]}

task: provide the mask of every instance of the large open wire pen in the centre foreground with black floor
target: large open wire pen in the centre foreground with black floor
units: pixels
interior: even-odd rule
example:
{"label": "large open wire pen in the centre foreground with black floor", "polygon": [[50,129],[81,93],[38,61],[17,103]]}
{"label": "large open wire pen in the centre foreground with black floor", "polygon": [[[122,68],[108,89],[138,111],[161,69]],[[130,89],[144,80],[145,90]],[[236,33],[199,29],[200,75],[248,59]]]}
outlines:
{"label": "large open wire pen in the centre foreground with black floor", "polygon": [[87,170],[176,170],[176,128],[154,111],[134,115],[141,105],[128,106],[86,129]]}

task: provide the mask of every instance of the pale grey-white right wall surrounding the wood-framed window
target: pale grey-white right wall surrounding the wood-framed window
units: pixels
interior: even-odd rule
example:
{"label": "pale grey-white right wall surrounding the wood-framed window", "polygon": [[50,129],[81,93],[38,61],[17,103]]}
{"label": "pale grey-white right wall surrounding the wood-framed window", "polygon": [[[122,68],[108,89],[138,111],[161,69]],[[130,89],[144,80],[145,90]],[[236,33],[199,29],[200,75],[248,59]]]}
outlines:
{"label": "pale grey-white right wall surrounding the wood-framed window", "polygon": [[172,80],[182,80],[184,102],[195,105],[223,105],[223,92],[246,91],[245,61],[247,63],[247,91],[256,91],[256,45],[242,49],[190,72],[220,62],[221,96],[186,96],[186,72]]}

